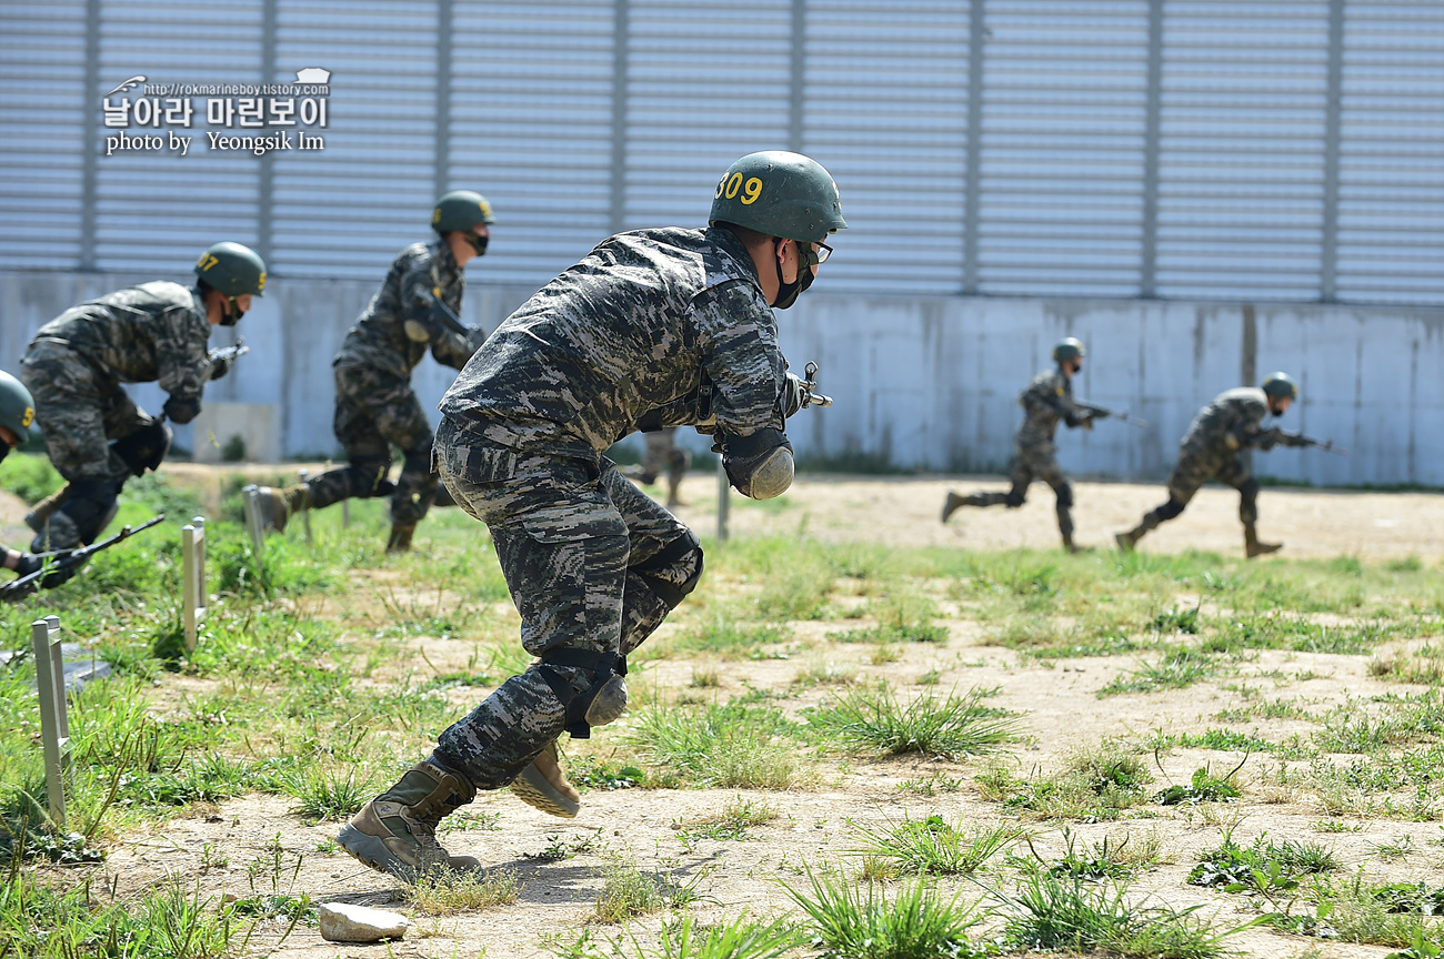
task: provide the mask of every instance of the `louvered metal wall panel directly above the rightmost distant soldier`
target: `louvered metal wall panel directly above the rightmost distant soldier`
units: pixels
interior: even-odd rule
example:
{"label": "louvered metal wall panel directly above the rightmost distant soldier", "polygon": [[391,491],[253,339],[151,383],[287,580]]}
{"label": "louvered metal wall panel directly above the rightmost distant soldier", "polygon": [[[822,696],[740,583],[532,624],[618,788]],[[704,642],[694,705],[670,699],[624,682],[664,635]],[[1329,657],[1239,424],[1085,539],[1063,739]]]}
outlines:
{"label": "louvered metal wall panel directly above the rightmost distant soldier", "polygon": [[1164,9],[1158,293],[1317,300],[1328,3]]}

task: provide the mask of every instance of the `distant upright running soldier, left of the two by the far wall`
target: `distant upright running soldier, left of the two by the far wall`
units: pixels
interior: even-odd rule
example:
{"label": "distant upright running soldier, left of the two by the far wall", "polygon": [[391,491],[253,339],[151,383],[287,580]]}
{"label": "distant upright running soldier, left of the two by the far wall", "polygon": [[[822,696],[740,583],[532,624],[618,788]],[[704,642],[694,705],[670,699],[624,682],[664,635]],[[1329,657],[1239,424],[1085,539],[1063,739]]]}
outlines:
{"label": "distant upright running soldier, left of the two by the far wall", "polygon": [[943,502],[943,522],[960,506],[1006,506],[1017,509],[1022,506],[1028,495],[1028,486],[1040,479],[1053,487],[1057,496],[1058,531],[1063,534],[1063,547],[1070,552],[1077,552],[1080,547],[1073,542],[1073,485],[1058,469],[1054,456],[1057,447],[1053,437],[1058,431],[1061,420],[1069,428],[1093,428],[1093,421],[1108,415],[1102,410],[1080,408],[1073,404],[1073,376],[1083,369],[1083,358],[1087,350],[1083,343],[1071,336],[1058,340],[1053,348],[1054,369],[1044,369],[1034,376],[1027,389],[1018,397],[1018,404],[1027,411],[1022,427],[1014,446],[1012,466],[1008,469],[1008,480],[1012,489],[1006,493],[976,492],[959,496],[953,490],[947,492]]}

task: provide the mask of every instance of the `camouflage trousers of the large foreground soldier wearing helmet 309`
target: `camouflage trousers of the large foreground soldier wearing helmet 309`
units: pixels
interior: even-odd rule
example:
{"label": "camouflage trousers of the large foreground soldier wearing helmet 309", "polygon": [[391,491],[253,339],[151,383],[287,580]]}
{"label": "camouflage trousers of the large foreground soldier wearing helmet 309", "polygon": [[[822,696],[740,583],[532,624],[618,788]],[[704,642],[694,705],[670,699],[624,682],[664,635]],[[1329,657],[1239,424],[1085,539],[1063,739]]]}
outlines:
{"label": "camouflage trousers of the large foreground soldier wearing helmet 309", "polygon": [[478,789],[498,789],[566,728],[557,688],[585,695],[596,678],[591,669],[547,663],[547,653],[637,649],[696,585],[702,548],[609,460],[462,443],[472,440],[459,440],[443,421],[436,444],[442,482],[490,528],[521,614],[521,645],[543,658],[438,738],[446,766]]}

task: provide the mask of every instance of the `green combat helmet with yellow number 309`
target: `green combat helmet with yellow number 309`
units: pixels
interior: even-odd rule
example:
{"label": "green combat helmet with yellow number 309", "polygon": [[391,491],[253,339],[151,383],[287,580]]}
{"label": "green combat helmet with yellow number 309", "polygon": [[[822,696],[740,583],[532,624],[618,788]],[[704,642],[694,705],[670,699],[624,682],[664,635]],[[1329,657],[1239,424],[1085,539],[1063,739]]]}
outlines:
{"label": "green combat helmet with yellow number 309", "polygon": [[709,222],[819,244],[848,228],[838,185],[820,163],[800,153],[748,153],[718,182]]}

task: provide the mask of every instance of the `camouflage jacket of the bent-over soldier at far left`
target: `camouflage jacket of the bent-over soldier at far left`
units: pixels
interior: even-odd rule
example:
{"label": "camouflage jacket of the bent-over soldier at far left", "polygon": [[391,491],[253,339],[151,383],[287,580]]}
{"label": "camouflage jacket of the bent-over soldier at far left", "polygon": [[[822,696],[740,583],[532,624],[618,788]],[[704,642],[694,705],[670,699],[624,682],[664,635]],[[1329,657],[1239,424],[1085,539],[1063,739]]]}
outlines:
{"label": "camouflage jacket of the bent-over soldier at far left", "polygon": [[156,280],[71,307],[32,343],[62,343],[120,382],[159,382],[172,397],[199,401],[211,378],[209,339],[199,293]]}

